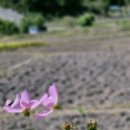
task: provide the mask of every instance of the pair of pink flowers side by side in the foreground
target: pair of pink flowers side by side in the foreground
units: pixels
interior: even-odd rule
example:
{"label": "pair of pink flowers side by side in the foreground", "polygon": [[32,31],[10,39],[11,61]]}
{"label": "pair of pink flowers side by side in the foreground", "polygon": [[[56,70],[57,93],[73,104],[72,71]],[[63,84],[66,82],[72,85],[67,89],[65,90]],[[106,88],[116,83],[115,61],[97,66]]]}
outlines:
{"label": "pair of pink flowers side by side in the foreground", "polygon": [[29,117],[32,110],[38,106],[43,106],[43,111],[35,114],[37,119],[43,119],[53,112],[58,103],[58,92],[55,84],[51,85],[48,93],[45,93],[40,99],[31,100],[27,90],[16,95],[14,102],[8,99],[3,107],[4,111],[9,113],[23,113]]}

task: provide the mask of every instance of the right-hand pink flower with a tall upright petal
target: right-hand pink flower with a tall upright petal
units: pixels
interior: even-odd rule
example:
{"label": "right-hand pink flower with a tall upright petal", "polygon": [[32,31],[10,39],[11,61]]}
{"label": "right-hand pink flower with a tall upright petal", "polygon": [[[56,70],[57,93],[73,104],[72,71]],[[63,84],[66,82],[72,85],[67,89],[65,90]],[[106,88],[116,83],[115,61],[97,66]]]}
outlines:
{"label": "right-hand pink flower with a tall upright petal", "polygon": [[57,107],[58,103],[58,92],[55,84],[49,87],[48,93],[44,94],[40,99],[41,104],[44,106],[44,111],[36,114],[37,119],[43,119],[44,117],[51,114]]}

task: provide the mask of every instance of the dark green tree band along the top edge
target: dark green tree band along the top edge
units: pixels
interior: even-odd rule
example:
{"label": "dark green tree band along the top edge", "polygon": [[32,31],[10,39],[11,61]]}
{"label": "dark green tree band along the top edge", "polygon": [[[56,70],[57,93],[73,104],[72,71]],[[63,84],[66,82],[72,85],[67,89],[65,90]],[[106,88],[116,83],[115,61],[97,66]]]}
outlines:
{"label": "dark green tree band along the top edge", "polygon": [[20,12],[42,13],[48,17],[77,15],[85,11],[108,14],[110,5],[127,6],[130,0],[0,0],[0,6]]}

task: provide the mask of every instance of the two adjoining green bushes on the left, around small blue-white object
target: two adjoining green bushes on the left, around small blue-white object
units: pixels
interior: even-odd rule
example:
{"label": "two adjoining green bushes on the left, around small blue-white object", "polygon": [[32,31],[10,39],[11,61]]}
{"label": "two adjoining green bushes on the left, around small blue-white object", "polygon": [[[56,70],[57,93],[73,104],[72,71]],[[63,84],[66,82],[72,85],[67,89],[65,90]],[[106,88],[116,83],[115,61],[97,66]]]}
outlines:
{"label": "two adjoining green bushes on the left, around small blue-white object", "polygon": [[36,26],[38,31],[46,29],[44,26],[45,19],[41,14],[29,13],[22,20],[20,25],[14,22],[0,19],[0,35],[12,35],[17,33],[27,33],[29,27]]}

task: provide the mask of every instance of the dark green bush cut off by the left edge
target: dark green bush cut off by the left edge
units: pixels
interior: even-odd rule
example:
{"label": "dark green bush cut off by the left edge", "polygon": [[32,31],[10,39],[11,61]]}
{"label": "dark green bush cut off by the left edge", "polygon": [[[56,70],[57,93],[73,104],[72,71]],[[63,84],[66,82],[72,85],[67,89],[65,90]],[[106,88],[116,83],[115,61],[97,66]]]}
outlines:
{"label": "dark green bush cut off by the left edge", "polygon": [[11,35],[17,32],[19,32],[19,29],[13,22],[0,19],[0,34]]}

